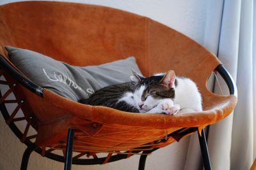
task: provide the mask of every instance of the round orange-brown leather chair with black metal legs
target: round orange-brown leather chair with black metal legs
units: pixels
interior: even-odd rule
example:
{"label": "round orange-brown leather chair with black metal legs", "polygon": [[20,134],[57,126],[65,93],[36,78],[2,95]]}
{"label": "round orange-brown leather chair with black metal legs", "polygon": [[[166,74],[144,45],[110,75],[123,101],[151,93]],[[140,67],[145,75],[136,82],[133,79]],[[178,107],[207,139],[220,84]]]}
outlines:
{"label": "round orange-brown leather chair with black metal legs", "polygon": [[[73,66],[98,65],[133,55],[145,76],[173,69],[194,80],[204,111],[147,115],[79,104],[28,80],[8,59],[6,45],[44,53]],[[211,169],[204,127],[227,117],[237,102],[234,81],[211,52],[150,18],[113,8],[42,1],[2,5],[0,54],[1,75],[6,79],[0,83],[9,87],[1,92],[1,113],[17,138],[28,146],[21,169],[26,169],[33,151],[65,162],[65,169],[71,164],[104,164],[140,154],[139,169],[144,169],[149,153],[196,131],[205,169]],[[212,71],[218,71],[227,82],[230,95],[220,96],[207,89]],[[8,99],[12,93],[14,100]],[[12,113],[6,109],[8,103],[17,103]],[[19,110],[24,117],[15,118]],[[26,120],[25,131],[15,125],[21,120]],[[36,134],[28,136],[29,128]],[[65,156],[54,150],[63,150]],[[72,157],[73,151],[79,154]],[[98,153],[108,155],[99,157]]]}

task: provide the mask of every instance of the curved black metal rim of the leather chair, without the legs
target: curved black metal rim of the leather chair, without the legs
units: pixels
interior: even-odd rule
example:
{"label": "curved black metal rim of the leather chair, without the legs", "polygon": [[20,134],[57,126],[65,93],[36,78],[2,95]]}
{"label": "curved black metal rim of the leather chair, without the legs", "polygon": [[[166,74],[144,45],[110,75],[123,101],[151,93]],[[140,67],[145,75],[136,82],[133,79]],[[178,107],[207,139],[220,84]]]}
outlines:
{"label": "curved black metal rim of the leather chair, without the legs", "polygon": [[[19,71],[17,71],[15,68],[13,68],[8,63],[8,61],[3,57],[3,55],[0,55],[0,66],[3,69],[5,69],[8,72],[8,74],[10,74],[10,76],[12,76],[12,78],[14,80],[16,80],[18,83],[20,83],[20,85],[26,87],[26,89],[30,90],[34,94],[36,94],[40,97],[44,97],[44,89],[42,87],[40,87],[39,85],[36,85],[35,83],[33,83],[33,81],[29,80],[28,78],[23,76],[21,73],[19,73]],[[225,67],[222,64],[220,64],[218,67],[216,67],[216,71],[218,71],[218,73],[220,73],[222,78],[227,83],[228,89],[230,91],[230,95],[237,96],[236,83],[234,82],[230,73],[228,73],[227,69],[225,69]],[[2,96],[2,94],[0,93],[0,97],[1,96]],[[4,119],[7,120],[10,117],[10,115],[8,114],[8,111],[6,110],[6,107],[4,106],[4,103],[0,104],[0,110],[1,110],[1,113],[4,117]],[[22,132],[20,131],[20,129],[13,122],[11,122],[9,124],[9,127],[10,127],[10,129],[12,129],[13,133],[19,139],[22,138]],[[34,143],[32,141],[30,141],[30,139],[27,139],[27,138],[24,141],[24,143],[27,146],[34,145]],[[36,148],[35,151],[39,154],[42,154],[42,152],[43,152],[42,148]],[[141,151],[136,151],[136,152],[140,153]],[[64,159],[63,156],[57,155],[55,153],[51,153],[51,152],[46,151],[45,152],[45,157],[47,157],[49,159],[52,159],[52,160],[57,160],[59,162],[65,162],[65,159]],[[127,158],[127,155],[117,154],[117,155],[111,156],[111,158],[109,159],[108,162],[114,162],[116,160],[121,160],[121,159],[126,159],[126,158]],[[78,165],[103,164],[105,159],[106,159],[106,157],[97,158],[97,159],[73,159],[72,164],[78,164]]]}

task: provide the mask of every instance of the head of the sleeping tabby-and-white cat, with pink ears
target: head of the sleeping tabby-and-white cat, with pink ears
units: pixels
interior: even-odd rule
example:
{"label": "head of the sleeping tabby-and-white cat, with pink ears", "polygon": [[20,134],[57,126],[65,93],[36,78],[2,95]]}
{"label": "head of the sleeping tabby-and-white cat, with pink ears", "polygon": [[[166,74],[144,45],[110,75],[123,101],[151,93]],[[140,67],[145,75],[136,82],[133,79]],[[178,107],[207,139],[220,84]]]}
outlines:
{"label": "head of the sleeping tabby-and-white cat, with pink ears", "polygon": [[166,74],[157,74],[147,78],[134,72],[131,80],[138,82],[134,100],[141,113],[156,107],[163,99],[174,99],[175,97],[175,73],[173,70]]}

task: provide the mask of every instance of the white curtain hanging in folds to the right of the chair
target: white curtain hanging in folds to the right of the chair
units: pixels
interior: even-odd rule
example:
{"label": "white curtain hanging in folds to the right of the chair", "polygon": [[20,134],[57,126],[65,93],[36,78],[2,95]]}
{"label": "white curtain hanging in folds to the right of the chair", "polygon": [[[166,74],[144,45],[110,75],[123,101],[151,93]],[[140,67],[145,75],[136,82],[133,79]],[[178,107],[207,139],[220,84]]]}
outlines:
{"label": "white curtain hanging in folds to the right of the chair", "polygon": [[[234,113],[209,129],[208,146],[214,170],[250,169],[256,157],[255,6],[253,0],[208,3],[204,46],[218,55],[238,90]],[[215,92],[220,93],[217,83],[215,86]],[[227,93],[223,81],[220,86]]]}

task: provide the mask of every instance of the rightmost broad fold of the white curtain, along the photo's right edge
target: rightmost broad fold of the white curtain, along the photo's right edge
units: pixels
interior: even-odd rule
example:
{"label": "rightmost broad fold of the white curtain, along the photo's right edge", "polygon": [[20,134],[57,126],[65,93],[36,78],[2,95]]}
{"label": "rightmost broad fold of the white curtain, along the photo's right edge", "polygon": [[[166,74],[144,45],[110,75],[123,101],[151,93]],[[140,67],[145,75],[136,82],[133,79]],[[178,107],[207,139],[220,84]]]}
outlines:
{"label": "rightmost broad fold of the white curtain, along the photo's right edge", "polygon": [[250,169],[253,163],[253,88],[256,88],[253,87],[253,0],[244,0],[241,1],[237,63],[239,102],[234,111],[231,169]]}

